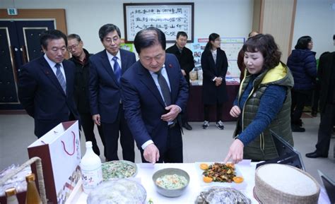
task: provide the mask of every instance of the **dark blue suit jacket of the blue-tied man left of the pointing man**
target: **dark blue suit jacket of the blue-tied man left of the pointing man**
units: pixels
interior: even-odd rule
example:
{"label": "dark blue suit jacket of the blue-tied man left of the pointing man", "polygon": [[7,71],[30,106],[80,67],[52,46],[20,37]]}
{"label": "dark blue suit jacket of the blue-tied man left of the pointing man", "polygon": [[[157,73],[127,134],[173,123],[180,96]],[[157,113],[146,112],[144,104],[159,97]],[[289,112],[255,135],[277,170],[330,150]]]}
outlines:
{"label": "dark blue suit jacket of the blue-tied man left of the pointing man", "polygon": [[[119,49],[122,73],[136,62],[133,52]],[[114,75],[106,50],[90,56],[90,110],[91,114],[100,114],[103,123],[112,124],[117,119],[120,85]]]}

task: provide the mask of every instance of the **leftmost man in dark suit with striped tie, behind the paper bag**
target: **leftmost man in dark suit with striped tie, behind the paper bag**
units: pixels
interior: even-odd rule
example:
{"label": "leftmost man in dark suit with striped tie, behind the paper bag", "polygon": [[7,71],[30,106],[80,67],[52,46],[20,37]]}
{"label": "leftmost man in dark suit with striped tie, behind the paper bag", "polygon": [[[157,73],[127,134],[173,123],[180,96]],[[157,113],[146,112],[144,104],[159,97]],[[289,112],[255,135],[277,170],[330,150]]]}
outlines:
{"label": "leftmost man in dark suit with striped tie, behind the paper bag", "polygon": [[25,64],[18,74],[18,97],[35,120],[37,138],[61,122],[79,119],[74,104],[75,66],[64,60],[66,35],[46,30],[40,44],[45,54]]}

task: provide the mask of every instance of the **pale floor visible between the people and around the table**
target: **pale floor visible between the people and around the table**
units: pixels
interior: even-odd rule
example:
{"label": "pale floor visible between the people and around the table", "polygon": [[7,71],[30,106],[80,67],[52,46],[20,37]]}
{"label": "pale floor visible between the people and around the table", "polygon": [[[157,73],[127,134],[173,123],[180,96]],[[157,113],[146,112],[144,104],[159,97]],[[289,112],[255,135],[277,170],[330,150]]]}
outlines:
{"label": "pale floor visible between the people and around the table", "polygon": [[[331,149],[328,158],[310,159],[305,153],[315,150],[319,117],[303,119],[305,133],[293,133],[295,148],[301,153],[308,173],[320,182],[317,169],[327,174],[335,181],[334,143],[331,139]],[[226,122],[225,130],[220,131],[213,123],[207,130],[201,128],[200,122],[190,123],[192,131],[184,130],[184,162],[220,162],[223,161],[232,142],[235,122]],[[33,119],[28,115],[0,114],[0,170],[10,164],[22,164],[28,160],[27,147],[36,140],[33,135]],[[97,132],[95,130],[95,132]],[[82,152],[85,152],[84,137],[81,138]],[[98,140],[100,150],[102,143]],[[120,151],[119,151],[120,155]],[[119,156],[122,158],[122,156]],[[104,160],[105,158],[102,158]],[[139,150],[136,149],[136,162],[141,162]]]}

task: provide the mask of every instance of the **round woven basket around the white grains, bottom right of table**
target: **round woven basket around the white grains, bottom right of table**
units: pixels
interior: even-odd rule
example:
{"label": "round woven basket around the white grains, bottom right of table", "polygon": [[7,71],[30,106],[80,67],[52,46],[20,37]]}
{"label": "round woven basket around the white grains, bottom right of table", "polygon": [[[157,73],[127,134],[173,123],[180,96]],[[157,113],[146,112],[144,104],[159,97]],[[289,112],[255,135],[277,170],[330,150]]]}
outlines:
{"label": "round woven basket around the white grains, bottom right of table", "polygon": [[[256,200],[259,201],[259,203],[287,203],[287,204],[293,204],[293,203],[304,203],[304,204],[312,204],[317,203],[319,199],[319,193],[320,193],[320,187],[317,181],[310,176],[310,174],[307,174],[307,172],[303,172],[302,170],[285,165],[286,167],[290,167],[295,169],[296,171],[300,172],[301,174],[305,174],[307,177],[312,179],[314,181],[315,185],[317,186],[317,192],[310,195],[310,196],[296,196],[290,193],[285,193],[283,191],[279,191],[276,188],[272,187],[271,185],[267,184],[266,181],[261,179],[259,177],[258,171],[261,168],[266,167],[267,165],[285,165],[285,164],[265,164],[261,167],[258,167],[256,169],[255,173],[255,186],[254,186],[254,197]],[[274,175],[276,176],[276,175]],[[287,182],[287,184],[290,184],[290,181]]]}

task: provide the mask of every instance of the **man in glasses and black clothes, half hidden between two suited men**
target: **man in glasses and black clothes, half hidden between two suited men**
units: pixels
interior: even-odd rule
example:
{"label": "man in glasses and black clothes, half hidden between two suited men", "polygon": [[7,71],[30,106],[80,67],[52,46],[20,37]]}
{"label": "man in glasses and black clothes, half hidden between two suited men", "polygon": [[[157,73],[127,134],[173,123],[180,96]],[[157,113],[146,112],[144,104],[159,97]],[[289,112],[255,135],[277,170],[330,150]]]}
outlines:
{"label": "man in glasses and black clothes, half hidden between two suited men", "polygon": [[[88,81],[90,79],[90,63],[88,59],[92,54],[89,54],[86,49],[83,49],[83,41],[77,34],[67,36],[67,49],[72,54],[70,61],[76,65],[74,76],[74,101],[81,117],[81,126],[85,133],[86,141],[92,141],[93,151],[100,155],[100,150],[95,140],[94,121],[90,114],[90,101],[88,91]],[[103,137],[102,128],[98,126],[98,132],[105,147],[105,139]],[[105,153],[106,157],[106,153]]]}

